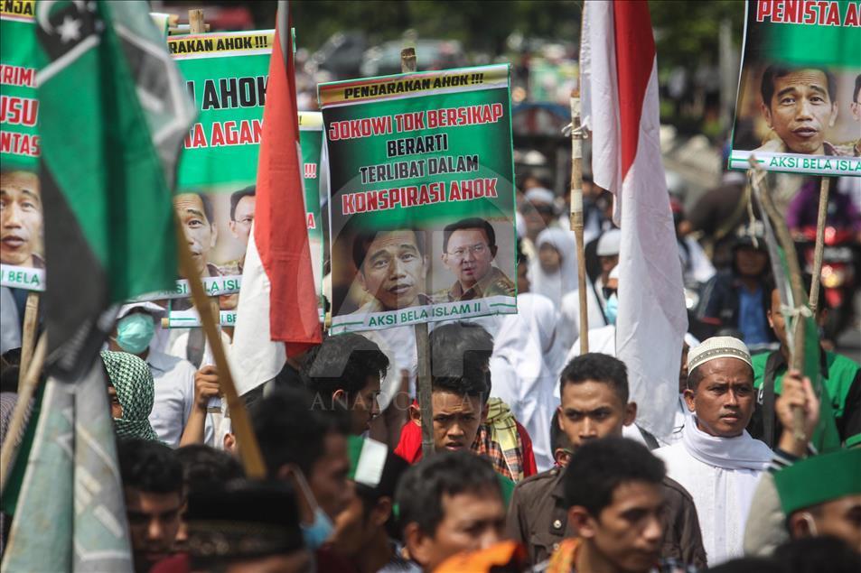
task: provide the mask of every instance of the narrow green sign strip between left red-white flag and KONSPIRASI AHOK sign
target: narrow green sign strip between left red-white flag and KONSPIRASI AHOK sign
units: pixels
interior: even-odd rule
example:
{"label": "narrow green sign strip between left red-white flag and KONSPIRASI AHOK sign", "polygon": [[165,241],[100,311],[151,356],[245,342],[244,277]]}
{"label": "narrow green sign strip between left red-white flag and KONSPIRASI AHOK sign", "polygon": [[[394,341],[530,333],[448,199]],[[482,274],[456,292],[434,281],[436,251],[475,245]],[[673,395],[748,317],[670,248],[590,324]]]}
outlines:
{"label": "narrow green sign strip between left red-white flag and KONSPIRASI AHOK sign", "polygon": [[[323,159],[323,114],[299,112],[299,144],[302,147],[302,169],[305,192],[305,220],[308,225],[308,246],[311,249],[311,264],[314,272],[314,287],[323,292],[323,219],[320,209],[320,181],[324,172]],[[325,318],[323,300],[320,304],[320,321]]]}

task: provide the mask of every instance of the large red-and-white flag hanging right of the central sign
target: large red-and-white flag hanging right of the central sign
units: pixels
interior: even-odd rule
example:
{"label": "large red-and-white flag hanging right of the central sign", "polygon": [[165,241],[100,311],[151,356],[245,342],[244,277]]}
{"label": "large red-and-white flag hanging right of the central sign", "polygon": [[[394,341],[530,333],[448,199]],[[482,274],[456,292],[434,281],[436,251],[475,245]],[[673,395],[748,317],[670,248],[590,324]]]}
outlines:
{"label": "large red-and-white flag hanging right of the central sign", "polygon": [[628,366],[637,424],[662,438],[679,400],[688,315],[660,157],[649,5],[588,1],[583,19],[580,81],[594,182],[613,192],[622,228],[616,356]]}

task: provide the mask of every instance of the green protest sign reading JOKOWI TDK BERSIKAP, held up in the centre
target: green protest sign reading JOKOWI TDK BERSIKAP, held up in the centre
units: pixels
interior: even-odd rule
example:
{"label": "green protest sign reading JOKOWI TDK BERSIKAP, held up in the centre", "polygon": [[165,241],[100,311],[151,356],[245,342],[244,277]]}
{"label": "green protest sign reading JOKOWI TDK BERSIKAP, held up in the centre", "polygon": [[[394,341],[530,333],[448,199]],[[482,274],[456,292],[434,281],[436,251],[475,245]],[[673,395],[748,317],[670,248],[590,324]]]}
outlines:
{"label": "green protest sign reading JOKOWI TDK BERSIKAP, held up in the centre", "polygon": [[517,311],[508,65],[321,84],[332,332]]}

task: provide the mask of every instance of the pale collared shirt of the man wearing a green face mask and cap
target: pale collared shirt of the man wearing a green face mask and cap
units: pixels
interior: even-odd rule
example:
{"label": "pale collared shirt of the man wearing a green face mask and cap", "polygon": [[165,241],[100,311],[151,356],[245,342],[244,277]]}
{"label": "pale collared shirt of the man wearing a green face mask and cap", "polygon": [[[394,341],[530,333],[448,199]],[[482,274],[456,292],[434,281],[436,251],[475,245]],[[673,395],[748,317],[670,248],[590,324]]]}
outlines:
{"label": "pale collared shirt of the man wearing a green face mask and cap", "polygon": [[[155,401],[149,421],[158,438],[172,448],[180,445],[182,430],[194,407],[194,374],[197,372],[188,360],[150,350],[146,364],[153,373]],[[214,432],[210,417],[206,417],[204,442],[212,445]]]}

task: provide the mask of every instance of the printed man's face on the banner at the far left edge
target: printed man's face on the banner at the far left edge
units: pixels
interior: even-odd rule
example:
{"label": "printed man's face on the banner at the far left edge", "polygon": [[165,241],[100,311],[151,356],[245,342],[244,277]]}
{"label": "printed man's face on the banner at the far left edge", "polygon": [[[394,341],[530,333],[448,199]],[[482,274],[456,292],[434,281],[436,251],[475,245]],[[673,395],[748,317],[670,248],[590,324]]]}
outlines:
{"label": "printed man's face on the banner at the far left edge", "polygon": [[42,195],[35,173],[0,174],[0,221],[0,262],[43,269],[44,259],[33,253],[42,236]]}

